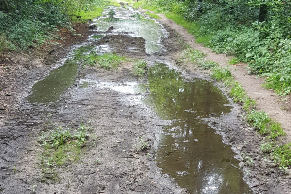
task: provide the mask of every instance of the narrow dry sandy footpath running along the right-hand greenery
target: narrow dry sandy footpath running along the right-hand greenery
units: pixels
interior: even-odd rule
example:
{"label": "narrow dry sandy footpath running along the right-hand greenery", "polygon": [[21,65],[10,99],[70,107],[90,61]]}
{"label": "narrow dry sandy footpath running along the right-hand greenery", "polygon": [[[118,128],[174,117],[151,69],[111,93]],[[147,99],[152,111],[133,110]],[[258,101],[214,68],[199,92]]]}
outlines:
{"label": "narrow dry sandy footpath running along the right-hand greenery", "polygon": [[[145,11],[145,10],[140,10]],[[173,20],[167,19],[164,15],[158,14],[161,19],[161,24],[168,26],[178,32],[179,35],[189,44],[193,49],[199,50],[206,54],[206,59],[214,61],[222,66],[227,66],[231,57],[227,57],[225,54],[213,53],[209,48],[203,46],[203,44],[197,44],[192,34],[188,33],[187,29],[176,24]],[[287,134],[286,142],[291,141],[291,112],[290,112],[290,97],[288,100],[282,101],[285,97],[279,97],[274,91],[268,90],[262,87],[264,84],[264,78],[260,78],[253,74],[248,74],[246,70],[247,64],[239,64],[231,68],[231,73],[235,80],[241,83],[242,87],[247,92],[248,96],[255,99],[258,103],[258,110],[264,110],[269,113],[272,118],[282,124],[282,128]]]}

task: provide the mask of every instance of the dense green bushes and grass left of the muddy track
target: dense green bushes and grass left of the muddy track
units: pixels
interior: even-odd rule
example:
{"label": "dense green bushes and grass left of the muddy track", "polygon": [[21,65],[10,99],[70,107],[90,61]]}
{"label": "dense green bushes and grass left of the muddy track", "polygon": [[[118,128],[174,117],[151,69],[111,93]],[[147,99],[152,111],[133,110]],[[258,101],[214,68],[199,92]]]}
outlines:
{"label": "dense green bushes and grass left of the muddy track", "polygon": [[70,19],[102,7],[103,0],[0,0],[0,52],[27,49],[51,38]]}

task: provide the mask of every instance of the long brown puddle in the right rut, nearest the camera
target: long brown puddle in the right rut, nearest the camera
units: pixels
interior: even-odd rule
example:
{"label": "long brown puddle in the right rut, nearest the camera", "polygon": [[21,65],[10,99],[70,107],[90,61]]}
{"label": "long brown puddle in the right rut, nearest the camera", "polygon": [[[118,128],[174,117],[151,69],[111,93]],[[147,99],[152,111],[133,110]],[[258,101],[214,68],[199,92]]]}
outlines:
{"label": "long brown puddle in the right rut, nearest the camera", "polygon": [[165,64],[149,69],[148,87],[147,101],[163,119],[173,120],[156,135],[162,172],[193,194],[251,194],[230,146],[202,120],[231,111],[222,92],[205,80],[185,82]]}

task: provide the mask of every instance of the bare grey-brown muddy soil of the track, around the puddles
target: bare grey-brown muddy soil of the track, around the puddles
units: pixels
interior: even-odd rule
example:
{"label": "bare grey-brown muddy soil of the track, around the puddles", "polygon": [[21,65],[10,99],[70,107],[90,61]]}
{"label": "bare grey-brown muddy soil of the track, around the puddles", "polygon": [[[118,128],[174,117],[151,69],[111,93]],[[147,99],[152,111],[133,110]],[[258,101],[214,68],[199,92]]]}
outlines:
{"label": "bare grey-brown muddy soil of the track, around the puddles", "polygon": [[[189,41],[191,37],[192,44],[195,45],[194,37],[184,33],[183,29],[164,16],[161,17],[160,22],[168,26],[169,36],[162,40],[167,51],[160,54],[147,55],[143,39],[123,35],[110,35],[111,38],[102,38],[94,44],[110,44],[111,47],[116,47],[117,53],[129,59],[145,59],[149,64],[159,60],[175,64],[179,53],[185,49],[183,40],[189,43],[187,37]],[[147,92],[120,93],[110,88],[83,88],[80,84],[83,79],[115,85],[126,82],[146,83],[146,76],[141,79],[133,76],[132,61],[121,64],[113,71],[90,66],[79,68],[75,84],[55,103],[30,104],[25,100],[31,93],[34,82],[43,79],[57,67],[59,60],[69,53],[71,46],[87,40],[91,33],[88,29],[87,25],[80,25],[76,30],[82,37],[65,33],[67,39],[60,42],[60,45],[31,50],[30,53],[7,55],[7,59],[1,62],[0,193],[188,193],[173,178],[162,174],[156,166],[155,134],[161,133],[162,126],[169,121],[161,120],[152,107],[140,101],[141,97],[147,96]],[[126,49],[129,44],[138,50],[129,51]],[[215,61],[216,55],[208,53],[208,57],[210,56]],[[222,56],[217,60],[226,63],[228,58]],[[178,69],[187,79],[200,77],[210,80],[208,72],[200,71],[194,66],[182,66]],[[216,84],[226,93],[223,86]],[[264,155],[260,152],[259,144],[263,137],[253,130],[245,129],[241,107],[237,104],[232,106],[234,108],[231,113],[220,118],[210,118],[207,122],[222,135],[224,142],[233,146],[237,153],[233,157],[240,159],[242,153],[249,153],[253,158],[252,166],[241,165],[244,172],[250,170],[250,173],[245,173],[245,181],[254,193],[290,193],[290,176],[261,160]],[[42,147],[38,146],[39,136],[42,132],[59,126],[76,129],[81,120],[84,124],[93,126],[81,159],[58,167],[56,181],[44,177],[39,162],[39,153],[42,151]],[[141,136],[149,142],[150,149],[137,152]],[[94,162],[96,159],[100,159],[100,164]]]}

